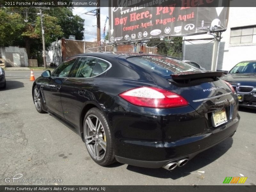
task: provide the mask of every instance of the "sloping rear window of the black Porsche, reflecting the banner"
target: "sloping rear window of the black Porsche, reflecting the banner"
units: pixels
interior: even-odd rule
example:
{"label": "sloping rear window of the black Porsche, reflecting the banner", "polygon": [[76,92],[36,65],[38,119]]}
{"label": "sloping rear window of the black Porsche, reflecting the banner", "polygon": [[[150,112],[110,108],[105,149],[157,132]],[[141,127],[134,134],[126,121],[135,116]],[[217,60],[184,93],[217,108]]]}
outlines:
{"label": "sloping rear window of the black Porsche, reflecting the banner", "polygon": [[176,74],[184,71],[198,71],[199,69],[189,65],[183,61],[172,59],[164,56],[137,56],[130,57],[128,61],[152,72],[158,73],[161,76],[170,78],[171,74]]}

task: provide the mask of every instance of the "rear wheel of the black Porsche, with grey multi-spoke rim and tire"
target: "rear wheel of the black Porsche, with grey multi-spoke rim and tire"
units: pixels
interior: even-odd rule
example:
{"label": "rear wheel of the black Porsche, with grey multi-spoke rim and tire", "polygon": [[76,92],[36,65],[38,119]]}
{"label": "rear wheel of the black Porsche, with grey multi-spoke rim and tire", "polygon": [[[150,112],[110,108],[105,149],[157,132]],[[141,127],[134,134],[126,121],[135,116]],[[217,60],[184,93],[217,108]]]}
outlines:
{"label": "rear wheel of the black Porsche, with grey multi-spoke rim and tire", "polygon": [[101,166],[116,162],[108,121],[98,108],[91,108],[84,117],[84,142],[93,161]]}

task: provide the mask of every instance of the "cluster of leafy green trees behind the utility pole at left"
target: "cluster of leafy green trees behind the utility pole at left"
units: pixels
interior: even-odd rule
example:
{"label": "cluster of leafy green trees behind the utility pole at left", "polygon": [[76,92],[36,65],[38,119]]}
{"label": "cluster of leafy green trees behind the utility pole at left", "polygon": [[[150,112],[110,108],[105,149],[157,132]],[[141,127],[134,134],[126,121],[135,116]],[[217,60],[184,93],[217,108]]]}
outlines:
{"label": "cluster of leafy green trees behind the utility pole at left", "polygon": [[[44,8],[43,8],[44,9]],[[56,38],[75,35],[82,40],[84,20],[74,16],[73,8],[52,7],[44,9],[46,48]],[[0,7],[0,46],[26,47],[28,58],[42,56],[42,30],[36,7]]]}

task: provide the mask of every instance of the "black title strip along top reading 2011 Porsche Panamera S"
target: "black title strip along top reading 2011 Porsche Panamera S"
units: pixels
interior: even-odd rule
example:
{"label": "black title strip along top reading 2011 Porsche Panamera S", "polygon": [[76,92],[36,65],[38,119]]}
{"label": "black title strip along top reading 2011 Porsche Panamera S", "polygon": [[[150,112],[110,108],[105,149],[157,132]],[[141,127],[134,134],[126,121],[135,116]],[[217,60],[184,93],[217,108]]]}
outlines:
{"label": "black title strip along top reading 2011 Porsche Panamera S", "polygon": [[0,0],[0,7],[256,7],[255,0]]}

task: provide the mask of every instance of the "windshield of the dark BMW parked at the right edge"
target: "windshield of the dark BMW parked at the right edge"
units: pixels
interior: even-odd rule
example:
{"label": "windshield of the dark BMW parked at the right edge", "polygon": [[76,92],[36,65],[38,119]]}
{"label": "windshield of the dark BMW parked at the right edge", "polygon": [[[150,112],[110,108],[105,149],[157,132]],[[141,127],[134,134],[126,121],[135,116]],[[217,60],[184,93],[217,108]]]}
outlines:
{"label": "windshield of the dark BMW parked at the right edge", "polygon": [[238,63],[229,73],[256,73],[256,62]]}

